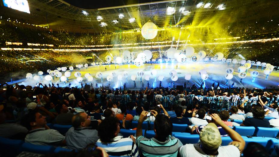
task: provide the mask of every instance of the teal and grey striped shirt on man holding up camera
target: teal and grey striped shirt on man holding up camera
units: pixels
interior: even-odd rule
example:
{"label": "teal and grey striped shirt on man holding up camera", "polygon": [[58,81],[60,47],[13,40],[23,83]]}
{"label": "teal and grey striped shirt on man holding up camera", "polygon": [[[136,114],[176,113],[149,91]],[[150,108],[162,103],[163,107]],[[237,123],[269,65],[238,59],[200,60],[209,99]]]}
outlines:
{"label": "teal and grey striped shirt on man holding up camera", "polygon": [[183,146],[179,139],[169,136],[166,141],[160,142],[154,137],[149,139],[143,136],[136,137],[136,145],[143,156],[173,157],[177,156],[178,148]]}

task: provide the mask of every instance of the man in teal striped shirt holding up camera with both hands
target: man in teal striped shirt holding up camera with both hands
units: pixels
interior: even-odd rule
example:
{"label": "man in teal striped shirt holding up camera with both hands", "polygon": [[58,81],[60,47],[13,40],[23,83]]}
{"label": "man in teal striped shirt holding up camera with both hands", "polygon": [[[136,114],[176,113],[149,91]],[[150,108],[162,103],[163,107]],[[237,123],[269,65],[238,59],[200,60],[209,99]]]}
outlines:
{"label": "man in teal striped shirt holding up camera with both hands", "polygon": [[142,155],[147,157],[162,154],[166,157],[177,156],[177,150],[182,146],[182,143],[179,139],[171,136],[173,125],[166,115],[151,110],[151,114],[156,117],[154,122],[155,137],[151,139],[143,137],[142,123],[147,118],[147,113],[146,111],[141,113],[136,129],[136,144]]}

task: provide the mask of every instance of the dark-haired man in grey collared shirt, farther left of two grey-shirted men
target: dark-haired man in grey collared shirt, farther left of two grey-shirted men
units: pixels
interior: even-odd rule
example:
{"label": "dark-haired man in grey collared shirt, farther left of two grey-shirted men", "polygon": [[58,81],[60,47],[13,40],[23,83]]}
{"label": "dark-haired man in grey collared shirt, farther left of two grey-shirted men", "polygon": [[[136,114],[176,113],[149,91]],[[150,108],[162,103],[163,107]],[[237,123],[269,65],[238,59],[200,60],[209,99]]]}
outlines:
{"label": "dark-haired man in grey collared shirt, farther left of two grey-shirted men", "polygon": [[47,126],[46,117],[31,111],[25,115],[21,124],[29,130],[25,142],[36,145],[66,145],[66,140],[57,130]]}

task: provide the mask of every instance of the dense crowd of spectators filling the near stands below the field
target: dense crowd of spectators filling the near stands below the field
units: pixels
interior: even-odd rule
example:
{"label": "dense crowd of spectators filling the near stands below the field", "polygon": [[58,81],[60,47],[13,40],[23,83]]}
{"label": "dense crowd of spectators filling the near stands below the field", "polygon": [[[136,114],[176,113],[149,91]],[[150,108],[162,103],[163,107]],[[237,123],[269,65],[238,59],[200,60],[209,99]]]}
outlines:
{"label": "dense crowd of spectators filling the near stands below the field", "polygon": [[[3,83],[0,94],[0,137],[79,150],[57,156],[269,156],[259,143],[245,144],[246,138],[232,128],[279,128],[277,91],[218,87],[86,91]],[[62,131],[54,125],[70,127]],[[177,125],[184,127],[179,131],[184,133],[174,131]],[[154,133],[148,136],[146,130]],[[179,134],[198,136],[198,143]],[[223,137],[231,141],[222,144]]]}

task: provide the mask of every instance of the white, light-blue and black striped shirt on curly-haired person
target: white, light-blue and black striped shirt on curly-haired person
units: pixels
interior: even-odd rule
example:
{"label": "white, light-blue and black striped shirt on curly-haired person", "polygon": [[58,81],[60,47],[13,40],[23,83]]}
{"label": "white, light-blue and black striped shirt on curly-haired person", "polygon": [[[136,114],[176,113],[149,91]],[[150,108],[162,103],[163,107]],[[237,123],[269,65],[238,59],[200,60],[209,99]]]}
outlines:
{"label": "white, light-blue and black striped shirt on curly-haired person", "polygon": [[123,138],[123,136],[116,136],[112,143],[104,144],[99,139],[96,143],[98,147],[102,147],[109,155],[113,156],[139,156],[138,148],[133,140],[130,138]]}

